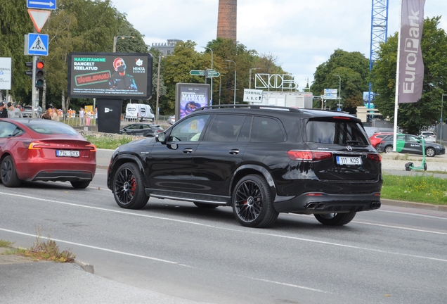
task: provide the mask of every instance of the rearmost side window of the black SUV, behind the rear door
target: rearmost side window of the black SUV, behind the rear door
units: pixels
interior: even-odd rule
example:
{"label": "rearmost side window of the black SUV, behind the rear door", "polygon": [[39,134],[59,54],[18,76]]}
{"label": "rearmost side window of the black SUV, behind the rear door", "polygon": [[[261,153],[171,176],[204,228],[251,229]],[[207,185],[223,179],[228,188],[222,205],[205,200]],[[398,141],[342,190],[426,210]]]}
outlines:
{"label": "rearmost side window of the black SUV, behind the rear door", "polygon": [[252,127],[252,142],[284,141],[283,130],[272,118],[255,116]]}

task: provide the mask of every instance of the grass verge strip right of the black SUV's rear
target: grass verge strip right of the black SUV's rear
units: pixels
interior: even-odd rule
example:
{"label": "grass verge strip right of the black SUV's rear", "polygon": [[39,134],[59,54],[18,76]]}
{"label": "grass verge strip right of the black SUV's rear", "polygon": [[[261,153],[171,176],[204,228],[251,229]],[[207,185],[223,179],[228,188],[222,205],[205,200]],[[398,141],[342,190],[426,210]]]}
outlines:
{"label": "grass verge strip right of the black SUV's rear", "polygon": [[447,205],[447,182],[429,175],[384,174],[381,198]]}

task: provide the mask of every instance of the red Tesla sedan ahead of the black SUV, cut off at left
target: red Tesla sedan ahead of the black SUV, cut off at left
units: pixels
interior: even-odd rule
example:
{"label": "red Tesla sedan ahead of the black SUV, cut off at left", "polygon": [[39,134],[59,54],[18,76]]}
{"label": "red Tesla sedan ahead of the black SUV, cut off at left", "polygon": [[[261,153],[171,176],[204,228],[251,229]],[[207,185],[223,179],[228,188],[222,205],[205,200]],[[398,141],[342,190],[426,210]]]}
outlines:
{"label": "red Tesla sedan ahead of the black SUV, cut off at left", "polygon": [[96,146],[62,122],[0,119],[0,174],[4,186],[22,181],[89,186],[96,172]]}

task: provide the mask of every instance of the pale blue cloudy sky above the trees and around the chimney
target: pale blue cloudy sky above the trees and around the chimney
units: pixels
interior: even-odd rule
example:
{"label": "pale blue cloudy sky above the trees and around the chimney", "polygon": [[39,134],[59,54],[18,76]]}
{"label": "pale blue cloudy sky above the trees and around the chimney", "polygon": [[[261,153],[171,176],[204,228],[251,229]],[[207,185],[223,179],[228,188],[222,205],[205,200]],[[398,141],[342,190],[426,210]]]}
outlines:
{"label": "pale blue cloudy sky above the trees and around the chimney", "polygon": [[[112,2],[146,44],[181,39],[205,46],[216,39],[218,0]],[[399,30],[400,5],[401,0],[389,0],[388,36]],[[371,9],[372,0],[238,0],[238,42],[276,55],[302,89],[335,49],[369,58]],[[443,15],[440,27],[447,30],[447,0],[426,0],[425,17],[436,15]]]}

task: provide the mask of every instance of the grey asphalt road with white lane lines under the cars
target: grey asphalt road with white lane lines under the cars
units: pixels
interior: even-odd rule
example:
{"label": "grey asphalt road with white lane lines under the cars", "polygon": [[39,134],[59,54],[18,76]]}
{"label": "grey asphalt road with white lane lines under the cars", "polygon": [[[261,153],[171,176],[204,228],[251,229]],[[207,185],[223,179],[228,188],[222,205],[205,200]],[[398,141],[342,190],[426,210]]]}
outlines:
{"label": "grey asphalt road with white lane lines under the cars", "polygon": [[[447,302],[447,213],[383,206],[344,227],[281,214],[269,229],[249,229],[228,207],[150,198],[143,210],[121,209],[105,177],[99,169],[85,190],[0,184],[0,239],[30,247],[41,227],[96,276],[120,284],[115,291],[185,302]],[[101,286],[98,293],[110,293]]]}

